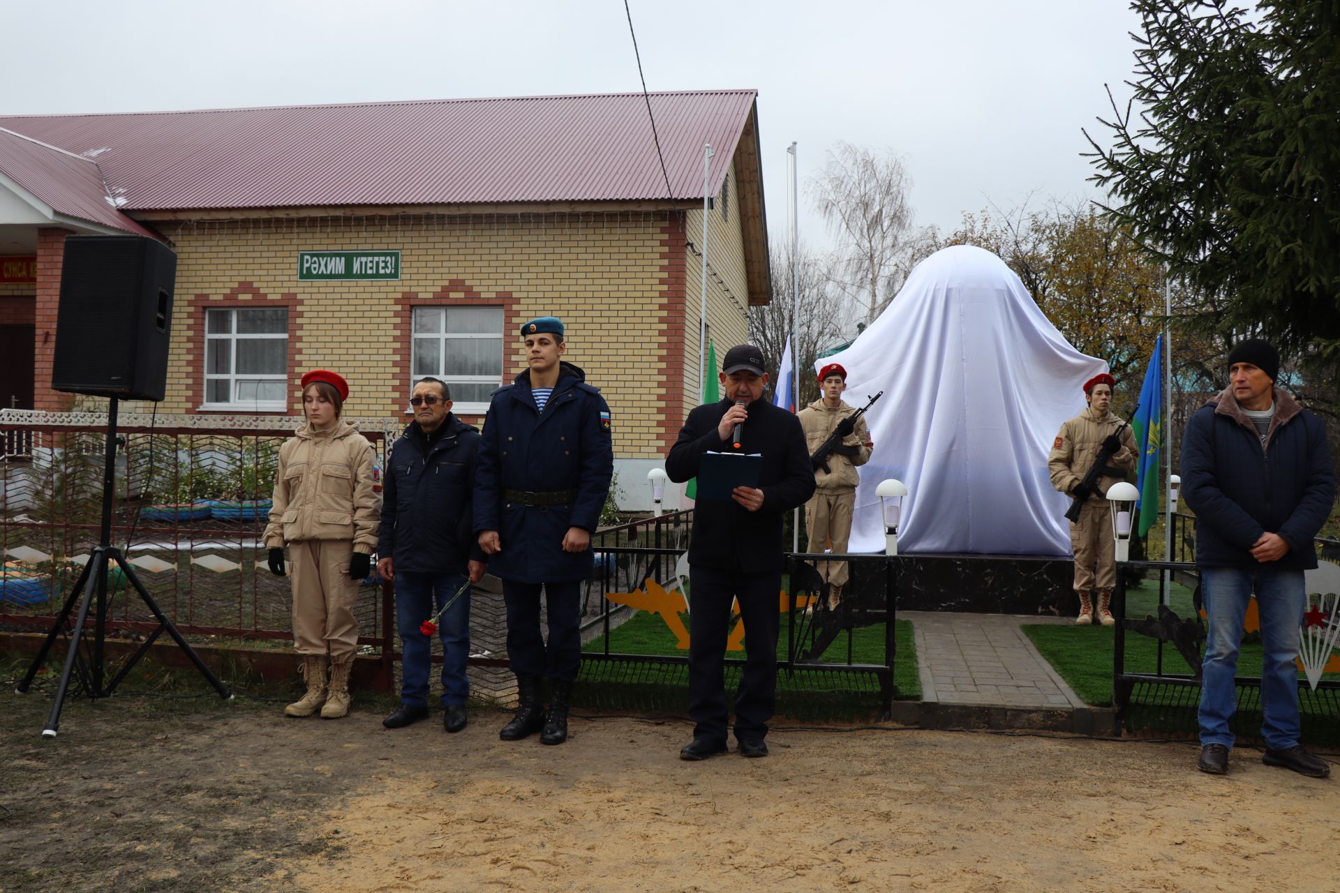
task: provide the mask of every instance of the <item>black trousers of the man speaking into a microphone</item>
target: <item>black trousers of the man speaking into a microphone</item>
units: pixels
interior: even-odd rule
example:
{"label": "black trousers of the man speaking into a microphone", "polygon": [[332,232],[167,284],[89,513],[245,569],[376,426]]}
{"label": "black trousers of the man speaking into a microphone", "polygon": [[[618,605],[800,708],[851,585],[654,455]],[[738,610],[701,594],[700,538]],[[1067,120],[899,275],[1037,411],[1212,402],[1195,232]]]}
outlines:
{"label": "black trousers of the man speaking into a microphone", "polygon": [[694,738],[726,740],[726,636],[740,598],[745,672],[736,692],[736,739],[762,739],[777,703],[781,572],[724,573],[689,566],[689,715]]}

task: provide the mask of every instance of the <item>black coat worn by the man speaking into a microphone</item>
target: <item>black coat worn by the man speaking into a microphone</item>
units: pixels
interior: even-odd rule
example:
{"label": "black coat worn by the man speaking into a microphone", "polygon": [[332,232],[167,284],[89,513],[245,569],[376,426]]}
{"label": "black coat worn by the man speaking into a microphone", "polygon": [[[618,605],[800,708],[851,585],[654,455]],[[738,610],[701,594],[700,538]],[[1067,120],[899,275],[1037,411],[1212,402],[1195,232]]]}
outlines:
{"label": "black coat worn by the man speaking into a microphone", "polygon": [[[683,482],[697,477],[702,454],[730,451],[717,435],[733,400],[708,403],[689,412],[679,439],[666,457],[666,474]],[[734,499],[699,499],[693,509],[689,564],[728,573],[776,572],[783,566],[781,517],[815,494],[815,471],[800,419],[766,400],[748,407],[741,451],[762,455],[758,489],[762,507],[749,511]]]}

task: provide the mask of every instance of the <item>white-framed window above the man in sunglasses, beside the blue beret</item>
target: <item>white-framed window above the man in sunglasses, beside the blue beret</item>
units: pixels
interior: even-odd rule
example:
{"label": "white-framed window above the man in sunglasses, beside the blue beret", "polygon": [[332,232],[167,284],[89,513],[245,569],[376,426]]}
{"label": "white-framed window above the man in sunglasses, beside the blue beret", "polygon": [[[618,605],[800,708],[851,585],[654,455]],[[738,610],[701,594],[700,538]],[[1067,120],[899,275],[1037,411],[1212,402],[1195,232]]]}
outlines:
{"label": "white-framed window above the man in sunglasses, beside the blue beret", "polygon": [[501,307],[415,307],[410,387],[446,382],[456,412],[485,412],[503,380]]}

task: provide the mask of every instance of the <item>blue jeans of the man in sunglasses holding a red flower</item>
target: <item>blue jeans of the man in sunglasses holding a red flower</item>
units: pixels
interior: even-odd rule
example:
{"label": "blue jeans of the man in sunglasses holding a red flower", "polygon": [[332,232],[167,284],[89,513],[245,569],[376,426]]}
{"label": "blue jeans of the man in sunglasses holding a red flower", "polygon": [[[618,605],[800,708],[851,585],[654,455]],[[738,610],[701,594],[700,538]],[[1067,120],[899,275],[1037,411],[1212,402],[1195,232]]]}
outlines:
{"label": "blue jeans of the man in sunglasses holding a red flower", "polygon": [[[465,584],[457,573],[395,574],[395,625],[401,633],[401,703],[427,707],[427,680],[433,672],[433,643],[419,632]],[[466,589],[441,617],[437,635],[442,640],[442,706],[462,706],[470,694],[465,667],[470,660],[470,590]]]}

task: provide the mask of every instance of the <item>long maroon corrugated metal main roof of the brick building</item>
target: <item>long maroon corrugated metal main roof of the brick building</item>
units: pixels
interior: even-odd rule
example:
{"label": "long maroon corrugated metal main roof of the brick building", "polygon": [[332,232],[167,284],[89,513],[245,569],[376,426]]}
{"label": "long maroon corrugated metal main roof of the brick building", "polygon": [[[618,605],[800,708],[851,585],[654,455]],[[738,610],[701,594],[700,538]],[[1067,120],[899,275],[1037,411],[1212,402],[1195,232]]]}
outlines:
{"label": "long maroon corrugated metal main roof of the brick building", "polygon": [[95,158],[123,210],[702,198],[757,92],[642,94],[0,118]]}

